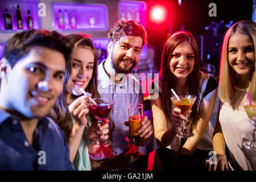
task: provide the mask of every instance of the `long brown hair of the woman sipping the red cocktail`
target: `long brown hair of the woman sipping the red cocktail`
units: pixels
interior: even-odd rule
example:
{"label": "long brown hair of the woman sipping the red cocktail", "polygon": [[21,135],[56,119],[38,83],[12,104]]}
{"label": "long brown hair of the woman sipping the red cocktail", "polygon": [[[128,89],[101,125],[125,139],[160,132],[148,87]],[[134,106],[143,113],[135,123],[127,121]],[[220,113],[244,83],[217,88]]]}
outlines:
{"label": "long brown hair of the woman sipping the red cocktail", "polygon": [[[97,52],[96,49],[93,47],[92,40],[90,40],[89,36],[86,34],[69,34],[67,35],[68,42],[67,44],[72,44],[73,50],[76,47],[79,46],[86,46],[92,49],[93,55],[94,55],[94,63],[93,63],[93,74],[92,78],[90,79],[88,85],[85,88],[86,92],[89,92],[92,94],[92,97],[97,98],[100,97],[100,94],[98,93],[97,87],[97,68],[98,68],[98,58],[97,58]],[[72,53],[71,53],[72,54]],[[70,56],[72,59],[72,55]],[[72,60],[69,60],[69,67],[72,69]],[[67,84],[67,82],[66,82]],[[63,92],[60,94],[60,96],[57,98],[57,101],[55,102],[55,105],[52,107],[49,117],[53,119],[59,125],[60,129],[63,130],[66,138],[69,140],[71,137],[71,131],[73,123],[71,123],[71,114],[68,110],[68,105],[66,102],[66,90],[65,85],[63,86]],[[73,96],[73,97],[79,97],[79,96]],[[96,122],[97,120],[93,117],[92,113],[88,113],[89,117],[92,119],[92,122]]]}

